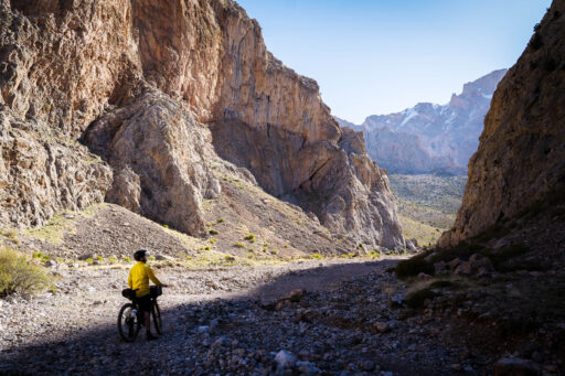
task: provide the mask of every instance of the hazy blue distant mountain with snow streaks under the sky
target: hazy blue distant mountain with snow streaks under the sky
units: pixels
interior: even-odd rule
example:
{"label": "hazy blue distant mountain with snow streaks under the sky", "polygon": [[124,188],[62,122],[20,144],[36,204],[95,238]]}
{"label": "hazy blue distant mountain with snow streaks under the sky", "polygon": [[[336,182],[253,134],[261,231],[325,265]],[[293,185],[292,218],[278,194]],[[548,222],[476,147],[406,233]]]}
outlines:
{"label": "hazy blue distant mountain with snow streaks under the sky", "polygon": [[361,126],[335,120],[363,131],[369,155],[390,172],[466,174],[492,94],[505,73],[494,71],[465,84],[444,106],[420,103],[402,112],[372,115]]}

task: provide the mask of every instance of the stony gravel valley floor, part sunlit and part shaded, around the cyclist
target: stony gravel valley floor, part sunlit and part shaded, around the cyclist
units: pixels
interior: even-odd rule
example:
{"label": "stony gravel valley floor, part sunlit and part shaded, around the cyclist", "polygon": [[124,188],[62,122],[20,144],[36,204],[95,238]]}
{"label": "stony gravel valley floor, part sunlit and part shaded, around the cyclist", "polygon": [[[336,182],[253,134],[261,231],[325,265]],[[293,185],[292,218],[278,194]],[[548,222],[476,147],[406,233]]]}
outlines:
{"label": "stony gravel valley floor, part sunlit and part shaded, around the cyclist", "polygon": [[[468,302],[460,302],[459,311],[441,299],[408,308],[406,284],[386,271],[396,262],[162,267],[158,276],[172,284],[160,297],[164,333],[149,343],[140,335],[134,344],[120,341],[115,324],[128,266],[63,267],[55,270],[55,292],[0,300],[0,374],[486,375],[494,369],[511,375],[533,369],[557,375],[563,369],[543,344],[514,353],[497,348],[501,344],[494,340],[478,345],[472,333],[488,337],[488,327],[471,319]],[[285,299],[297,289],[306,291]]]}

